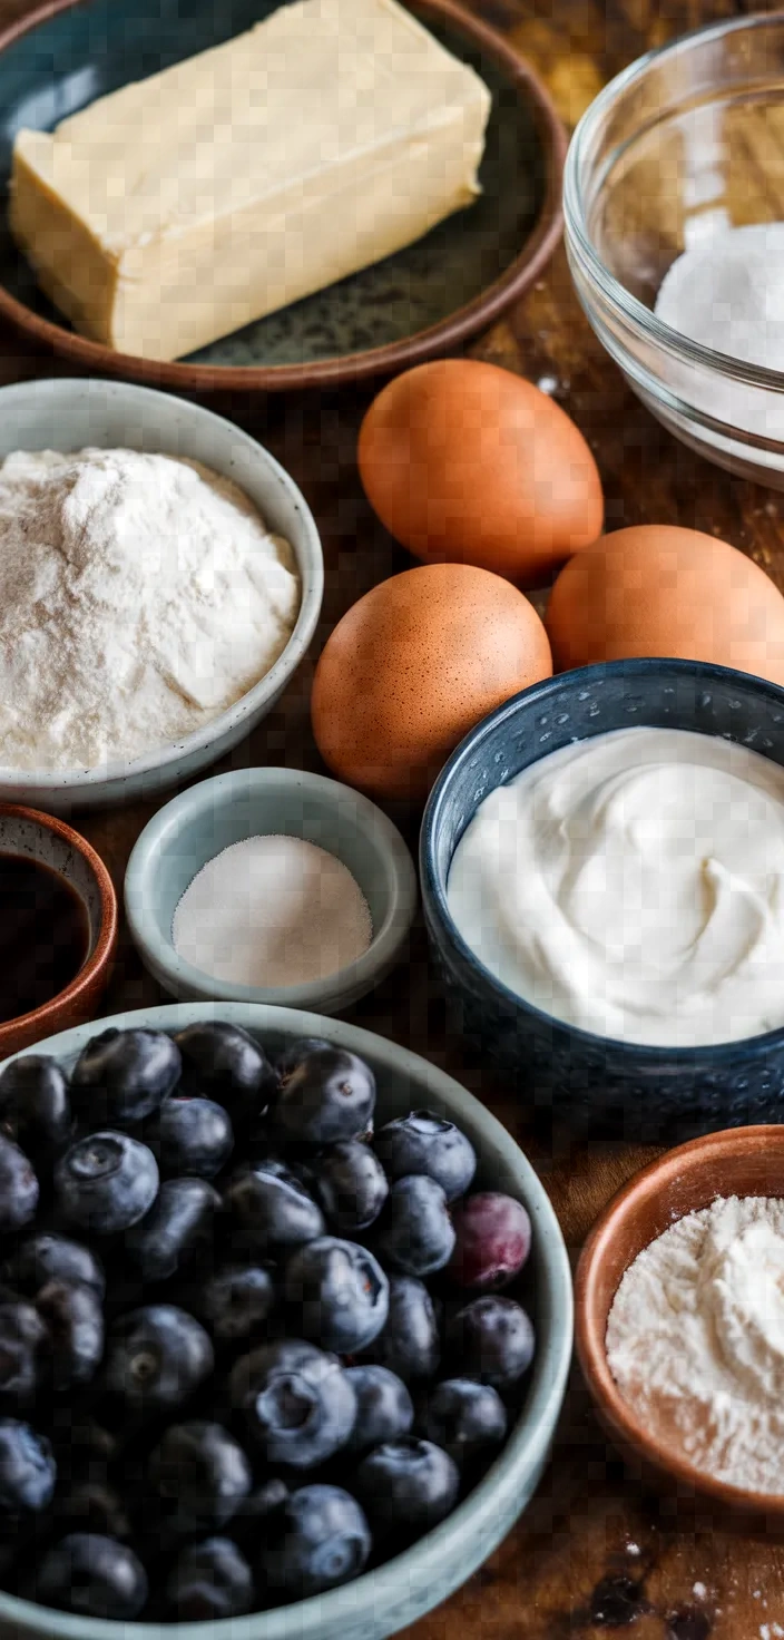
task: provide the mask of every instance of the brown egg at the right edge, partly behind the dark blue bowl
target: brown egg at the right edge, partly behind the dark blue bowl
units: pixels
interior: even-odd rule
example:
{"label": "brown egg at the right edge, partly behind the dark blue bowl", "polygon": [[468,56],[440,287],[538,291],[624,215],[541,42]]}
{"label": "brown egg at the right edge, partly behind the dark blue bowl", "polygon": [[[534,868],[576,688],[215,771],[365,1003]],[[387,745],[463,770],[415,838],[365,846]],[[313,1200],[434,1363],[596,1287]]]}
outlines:
{"label": "brown egg at the right edge, partly behind the dark blue bowl", "polygon": [[672,525],[617,530],[553,587],[558,671],[635,654],[715,661],[784,684],[784,599],[727,541]]}

